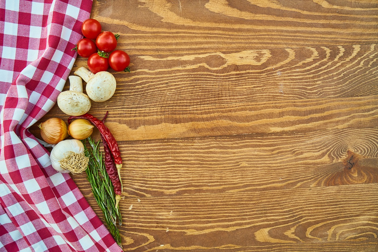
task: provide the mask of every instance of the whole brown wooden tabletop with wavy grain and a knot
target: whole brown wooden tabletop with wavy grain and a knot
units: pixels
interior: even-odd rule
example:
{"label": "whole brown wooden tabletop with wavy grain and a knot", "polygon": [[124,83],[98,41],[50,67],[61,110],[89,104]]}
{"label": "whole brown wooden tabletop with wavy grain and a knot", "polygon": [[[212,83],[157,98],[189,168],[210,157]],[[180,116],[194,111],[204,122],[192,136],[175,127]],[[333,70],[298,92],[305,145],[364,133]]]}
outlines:
{"label": "whole brown wooden tabletop with wavy grain and a knot", "polygon": [[132,61],[90,110],[124,160],[125,251],[378,251],[378,1],[94,0],[91,17]]}

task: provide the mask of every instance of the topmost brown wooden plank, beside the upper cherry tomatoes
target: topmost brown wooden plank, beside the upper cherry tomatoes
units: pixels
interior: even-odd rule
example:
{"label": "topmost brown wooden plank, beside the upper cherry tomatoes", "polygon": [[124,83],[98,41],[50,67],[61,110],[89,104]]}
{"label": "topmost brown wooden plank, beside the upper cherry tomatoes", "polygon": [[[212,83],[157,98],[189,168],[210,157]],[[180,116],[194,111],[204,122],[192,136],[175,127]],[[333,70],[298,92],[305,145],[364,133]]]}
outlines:
{"label": "topmost brown wooden plank, beside the upper cherry tomatoes", "polygon": [[377,11],[376,0],[107,0],[91,17],[125,50],[161,55],[372,44]]}

